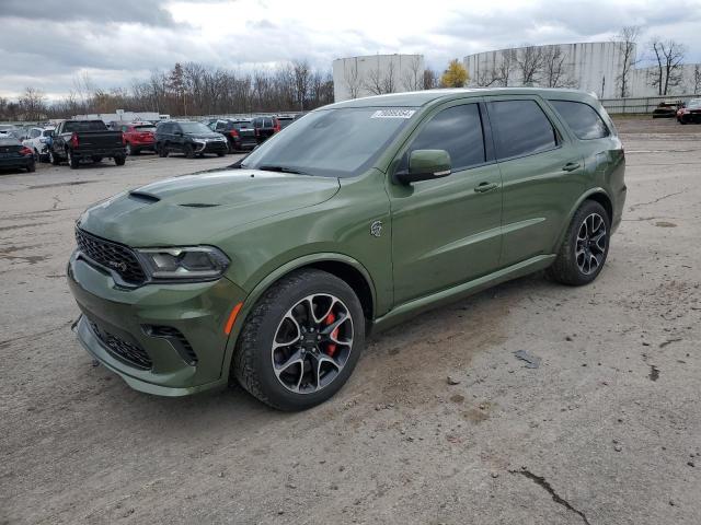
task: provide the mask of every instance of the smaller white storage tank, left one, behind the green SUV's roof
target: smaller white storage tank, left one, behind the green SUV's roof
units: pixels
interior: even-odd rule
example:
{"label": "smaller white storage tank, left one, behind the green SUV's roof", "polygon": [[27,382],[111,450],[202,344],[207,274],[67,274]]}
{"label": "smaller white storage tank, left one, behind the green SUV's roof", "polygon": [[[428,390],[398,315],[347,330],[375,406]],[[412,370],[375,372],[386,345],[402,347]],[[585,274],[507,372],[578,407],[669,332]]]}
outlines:
{"label": "smaller white storage tank, left one, behind the green SUV's roof", "polygon": [[423,89],[423,55],[368,55],[333,61],[336,102]]}

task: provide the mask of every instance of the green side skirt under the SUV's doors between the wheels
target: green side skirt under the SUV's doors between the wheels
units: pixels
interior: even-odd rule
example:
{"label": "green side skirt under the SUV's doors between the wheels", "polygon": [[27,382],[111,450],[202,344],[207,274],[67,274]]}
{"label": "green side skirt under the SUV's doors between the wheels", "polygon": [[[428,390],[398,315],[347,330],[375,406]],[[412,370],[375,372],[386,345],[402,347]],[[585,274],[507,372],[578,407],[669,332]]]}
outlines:
{"label": "green side skirt under the SUV's doors between the wheels", "polygon": [[458,284],[457,287],[452,287],[447,290],[441,290],[440,292],[432,293],[425,298],[414,299],[413,301],[400,304],[382,317],[375,319],[372,324],[372,331],[386,330],[427,310],[453,303],[460,299],[481,292],[487,288],[492,288],[495,284],[517,279],[538,270],[543,270],[552,265],[555,257],[556,255],[554,254],[531,257],[530,259],[503,268],[494,273],[490,273],[489,276]]}

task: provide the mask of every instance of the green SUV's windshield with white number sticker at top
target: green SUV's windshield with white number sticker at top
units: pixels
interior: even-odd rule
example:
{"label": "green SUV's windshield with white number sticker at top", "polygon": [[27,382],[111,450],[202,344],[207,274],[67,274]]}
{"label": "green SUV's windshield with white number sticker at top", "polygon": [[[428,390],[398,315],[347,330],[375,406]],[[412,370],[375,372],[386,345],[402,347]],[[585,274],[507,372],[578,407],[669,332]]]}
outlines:
{"label": "green SUV's windshield with white number sticker at top", "polygon": [[241,167],[276,166],[307,175],[352,177],[372,165],[414,113],[378,107],[312,112],[263,143]]}

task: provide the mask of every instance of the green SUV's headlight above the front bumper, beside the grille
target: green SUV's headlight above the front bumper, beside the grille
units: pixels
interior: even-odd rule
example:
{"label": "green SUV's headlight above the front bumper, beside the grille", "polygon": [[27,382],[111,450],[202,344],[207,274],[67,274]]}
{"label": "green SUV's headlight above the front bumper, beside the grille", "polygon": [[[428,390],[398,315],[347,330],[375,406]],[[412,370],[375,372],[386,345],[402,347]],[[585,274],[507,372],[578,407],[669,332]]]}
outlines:
{"label": "green SUV's headlight above the front bumper, beside the grille", "polygon": [[208,281],[229,267],[229,258],[214,246],[139,249],[153,279]]}

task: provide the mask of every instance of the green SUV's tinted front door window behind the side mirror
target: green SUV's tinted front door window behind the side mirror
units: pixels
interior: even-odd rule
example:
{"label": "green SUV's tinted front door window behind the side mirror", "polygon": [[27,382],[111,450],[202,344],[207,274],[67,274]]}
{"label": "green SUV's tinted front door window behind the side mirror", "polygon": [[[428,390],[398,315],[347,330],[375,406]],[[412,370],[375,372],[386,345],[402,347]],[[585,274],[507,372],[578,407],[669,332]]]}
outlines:
{"label": "green SUV's tinted front door window behind the side mirror", "polygon": [[[414,150],[446,150],[452,171],[464,170],[485,161],[482,119],[478,104],[444,109],[433,117],[412,142]],[[409,154],[403,167],[406,167]]]}

